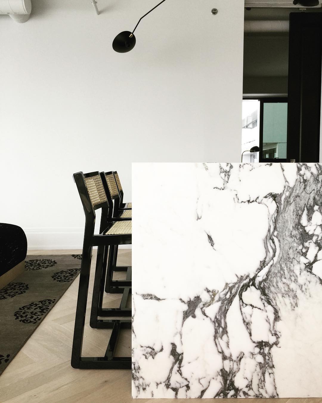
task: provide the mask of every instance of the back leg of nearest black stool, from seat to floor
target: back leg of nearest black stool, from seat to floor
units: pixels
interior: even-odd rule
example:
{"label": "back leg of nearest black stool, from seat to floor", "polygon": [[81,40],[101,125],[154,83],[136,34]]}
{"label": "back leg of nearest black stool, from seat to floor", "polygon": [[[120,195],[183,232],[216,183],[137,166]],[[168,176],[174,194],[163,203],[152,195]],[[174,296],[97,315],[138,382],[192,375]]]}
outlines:
{"label": "back leg of nearest black stool, from seat to floor", "polygon": [[82,355],[83,335],[85,327],[85,314],[87,305],[87,294],[89,287],[89,272],[91,269],[92,246],[83,247],[83,256],[81,263],[81,273],[79,275],[77,307],[74,326],[74,337],[72,345],[71,365],[73,368],[80,368]]}

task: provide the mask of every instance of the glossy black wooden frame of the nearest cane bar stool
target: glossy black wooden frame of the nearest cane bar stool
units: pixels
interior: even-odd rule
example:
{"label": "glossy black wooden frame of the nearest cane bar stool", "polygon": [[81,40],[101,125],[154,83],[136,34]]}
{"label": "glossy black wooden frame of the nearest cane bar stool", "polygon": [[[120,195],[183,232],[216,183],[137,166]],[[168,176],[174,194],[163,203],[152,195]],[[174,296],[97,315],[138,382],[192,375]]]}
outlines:
{"label": "glossy black wooden frame of the nearest cane bar stool", "polygon": [[[77,307],[75,316],[75,326],[74,326],[74,337],[72,345],[72,358],[71,365],[73,368],[105,368],[105,369],[125,369],[131,368],[131,357],[115,357],[115,348],[118,341],[118,336],[122,328],[131,328],[131,320],[128,319],[104,319],[99,320],[95,327],[99,328],[109,328],[112,329],[109,343],[105,355],[103,357],[82,357],[82,345],[83,336],[85,328],[85,315],[86,315],[86,305],[87,296],[89,288],[89,274],[91,268],[91,256],[93,251],[93,246],[98,247],[97,251],[97,262],[95,278],[101,278],[101,285],[104,284],[104,265],[103,258],[107,256],[107,249],[110,245],[128,245],[132,243],[131,234],[116,234],[116,235],[106,235],[106,232],[114,225],[115,222],[121,221],[120,218],[113,218],[113,221],[108,221],[109,215],[109,204],[108,202],[102,202],[92,204],[87,191],[87,186],[85,183],[85,178],[96,177],[99,172],[91,172],[89,174],[83,174],[83,172],[77,172],[74,174],[74,180],[78,188],[79,195],[83,204],[85,212],[85,233],[84,233],[84,243],[83,243],[83,256],[81,261],[81,272],[79,276],[79,286],[78,286],[78,297],[77,297]],[[94,235],[95,229],[95,210],[102,209],[101,226],[104,221],[107,223],[105,229],[100,228],[99,234]],[[124,219],[126,220],[126,219]],[[123,220],[122,220],[123,221]],[[102,287],[101,287],[102,288]],[[101,292],[97,291],[97,284],[93,290],[93,301],[103,298],[103,290]],[[124,295],[122,298],[121,305],[125,306],[127,296]],[[96,318],[97,319],[97,318]]]}

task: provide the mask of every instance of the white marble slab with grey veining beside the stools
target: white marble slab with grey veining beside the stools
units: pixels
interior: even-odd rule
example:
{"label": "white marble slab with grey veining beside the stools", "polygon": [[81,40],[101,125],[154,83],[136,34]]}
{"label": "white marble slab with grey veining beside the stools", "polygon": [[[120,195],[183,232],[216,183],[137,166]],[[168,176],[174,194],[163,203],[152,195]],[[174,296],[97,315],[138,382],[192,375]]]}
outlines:
{"label": "white marble slab with grey veining beside the stools", "polygon": [[321,397],[322,165],[132,178],[132,397]]}

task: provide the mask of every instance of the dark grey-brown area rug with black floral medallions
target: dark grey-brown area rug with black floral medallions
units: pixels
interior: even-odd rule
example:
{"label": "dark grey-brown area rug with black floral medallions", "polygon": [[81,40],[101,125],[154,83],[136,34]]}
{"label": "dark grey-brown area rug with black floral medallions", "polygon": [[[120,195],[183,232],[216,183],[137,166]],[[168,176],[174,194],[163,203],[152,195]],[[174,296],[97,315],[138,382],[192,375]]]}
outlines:
{"label": "dark grey-brown area rug with black floral medallions", "polygon": [[0,374],[81,268],[81,255],[27,256],[25,272],[0,289]]}

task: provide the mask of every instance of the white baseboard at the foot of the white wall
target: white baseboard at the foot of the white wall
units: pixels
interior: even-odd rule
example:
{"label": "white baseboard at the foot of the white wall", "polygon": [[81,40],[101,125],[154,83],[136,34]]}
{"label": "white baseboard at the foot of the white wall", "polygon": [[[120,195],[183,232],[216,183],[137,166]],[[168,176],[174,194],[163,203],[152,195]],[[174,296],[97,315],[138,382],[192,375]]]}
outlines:
{"label": "white baseboard at the foot of the white wall", "polygon": [[[83,249],[83,228],[23,228],[28,249]],[[132,249],[132,245],[120,245]]]}

